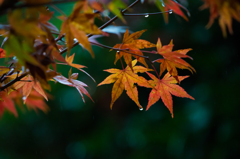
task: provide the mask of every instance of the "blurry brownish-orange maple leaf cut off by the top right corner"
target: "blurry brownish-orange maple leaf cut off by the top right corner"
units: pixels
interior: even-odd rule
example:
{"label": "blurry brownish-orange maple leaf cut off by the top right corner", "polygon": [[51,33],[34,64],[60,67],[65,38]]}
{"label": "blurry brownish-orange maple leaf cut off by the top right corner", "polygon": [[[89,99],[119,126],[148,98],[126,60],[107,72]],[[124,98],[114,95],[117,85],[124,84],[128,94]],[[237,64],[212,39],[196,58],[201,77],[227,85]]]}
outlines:
{"label": "blurry brownish-orange maple leaf cut off by the top right corner", "polygon": [[233,34],[232,30],[232,18],[240,22],[240,2],[236,0],[203,0],[205,3],[200,9],[210,9],[210,18],[207,24],[207,28],[210,28],[216,18],[219,17],[219,25],[222,29],[224,37],[227,37],[226,27],[230,34]]}

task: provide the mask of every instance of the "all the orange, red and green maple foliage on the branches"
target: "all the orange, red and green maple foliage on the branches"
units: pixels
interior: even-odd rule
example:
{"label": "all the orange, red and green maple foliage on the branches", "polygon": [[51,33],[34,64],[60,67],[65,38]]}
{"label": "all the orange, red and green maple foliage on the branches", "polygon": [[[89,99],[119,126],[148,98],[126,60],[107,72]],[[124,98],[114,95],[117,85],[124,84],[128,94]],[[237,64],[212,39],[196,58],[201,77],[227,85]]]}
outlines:
{"label": "all the orange, red and green maple foliage on the branches", "polygon": [[[226,36],[226,26],[230,33],[232,31],[232,18],[240,21],[239,2],[234,0],[203,0],[204,8],[210,8],[210,27],[214,19],[219,17],[219,25],[223,35]],[[74,63],[75,53],[71,53],[72,47],[81,45],[94,58],[91,45],[96,45],[114,52],[115,60],[113,64],[120,62],[121,69],[110,68],[104,70],[111,73],[98,86],[113,84],[110,108],[120,97],[123,91],[132,99],[140,110],[144,108],[139,103],[138,86],[151,89],[148,97],[148,110],[160,99],[169,109],[173,117],[172,95],[194,99],[182,87],[180,82],[188,76],[179,76],[178,69],[186,69],[191,73],[195,69],[184,59],[192,58],[187,55],[192,49],[174,50],[173,41],[163,45],[160,38],[153,44],[146,39],[140,39],[145,30],[129,33],[129,29],[123,35],[122,43],[113,47],[89,40],[94,35],[107,35],[103,29],[112,24],[117,18],[127,23],[124,19],[125,12],[134,7],[137,3],[144,2],[136,0],[131,4],[125,4],[121,0],[110,2],[95,0],[79,0],[75,2],[73,10],[69,16],[63,11],[59,11],[55,3],[67,3],[67,1],[52,0],[18,0],[0,1],[0,6],[6,8],[1,11],[1,15],[6,14],[8,24],[0,24],[0,34],[4,38],[2,48],[0,48],[0,58],[5,58],[5,63],[0,66],[0,116],[5,110],[18,116],[16,106],[23,108],[26,105],[29,109],[42,110],[47,112],[49,107],[44,100],[48,100],[50,90],[49,82],[61,83],[74,87],[81,95],[83,101],[85,96],[90,98],[87,91],[88,85],[78,80],[78,73],[69,70],[68,77],[62,75],[57,69],[58,65],[68,65],[84,72],[93,81],[94,78],[84,71],[86,66]],[[163,14],[167,23],[169,14],[175,13],[188,21],[188,10],[175,0],[149,1],[154,3]],[[60,30],[50,20],[55,16],[48,7],[52,7],[62,15],[57,18],[62,21]],[[109,18],[104,13],[110,11],[115,17]],[[150,15],[143,13],[142,15]],[[131,14],[128,14],[128,16]],[[139,14],[141,16],[141,13]],[[95,24],[95,19],[103,21],[102,26]],[[161,35],[159,35],[161,36]],[[147,51],[144,49],[151,49]],[[66,54],[65,54],[66,53]],[[151,61],[149,56],[158,55],[159,58]],[[160,67],[160,71],[155,68]],[[111,67],[111,66],[110,66]],[[141,76],[143,73],[146,76]]]}

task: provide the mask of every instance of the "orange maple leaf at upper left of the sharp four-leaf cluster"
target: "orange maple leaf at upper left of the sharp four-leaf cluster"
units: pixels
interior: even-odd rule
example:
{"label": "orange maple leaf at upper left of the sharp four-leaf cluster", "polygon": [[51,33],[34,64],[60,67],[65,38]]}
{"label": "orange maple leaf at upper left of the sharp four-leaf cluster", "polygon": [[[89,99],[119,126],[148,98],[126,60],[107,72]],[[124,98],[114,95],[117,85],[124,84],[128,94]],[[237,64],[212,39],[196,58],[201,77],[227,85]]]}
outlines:
{"label": "orange maple leaf at upper left of the sharp four-leaf cluster", "polygon": [[[138,39],[142,33],[146,30],[137,31],[129,35],[128,29],[126,30],[123,36],[122,44],[116,44],[113,48],[116,49],[126,49],[126,51],[117,51],[116,58],[114,64],[123,56],[127,65],[132,68],[132,56],[135,57],[139,62],[141,62],[144,66],[148,67],[145,59],[143,57],[143,53],[139,49],[143,48],[151,48],[155,47],[155,44],[150,43],[149,41]],[[139,55],[139,56],[138,56]]]}

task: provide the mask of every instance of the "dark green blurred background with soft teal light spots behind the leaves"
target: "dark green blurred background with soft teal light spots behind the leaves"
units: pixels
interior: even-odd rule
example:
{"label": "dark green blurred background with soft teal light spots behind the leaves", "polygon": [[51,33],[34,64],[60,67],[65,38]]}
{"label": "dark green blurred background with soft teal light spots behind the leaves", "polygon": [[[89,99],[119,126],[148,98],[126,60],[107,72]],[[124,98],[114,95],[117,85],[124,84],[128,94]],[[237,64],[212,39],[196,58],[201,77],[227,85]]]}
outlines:
{"label": "dark green blurred background with soft teal light spots behind the leaves", "polygon": [[[126,18],[130,30],[148,29],[143,39],[156,43],[160,37],[164,45],[173,39],[175,50],[193,49],[189,55],[194,60],[187,62],[197,73],[181,86],[195,100],[173,97],[174,119],[162,101],[148,111],[139,111],[125,92],[110,110],[112,85],[96,86],[109,75],[103,69],[121,68],[119,63],[113,64],[115,53],[93,47],[96,58],[92,59],[89,53],[76,47],[75,62],[88,66],[85,70],[96,79],[94,83],[79,72],[79,80],[89,85],[95,102],[86,97],[84,104],[76,89],[53,84],[54,99],[48,102],[51,108],[48,114],[19,111],[17,119],[4,114],[0,120],[0,159],[240,158],[240,24],[233,21],[234,35],[223,38],[217,21],[209,30],[205,29],[209,11],[199,11],[203,2],[188,2],[189,22],[175,14],[170,15],[169,24],[164,23],[162,15]],[[71,6],[59,5],[67,13]],[[133,11],[158,9],[139,4]],[[60,24],[56,18],[54,22]],[[116,24],[124,25],[119,20]],[[99,41],[113,46],[121,39],[110,35]],[[67,75],[69,67],[58,70]],[[179,71],[179,74],[190,75],[190,72]],[[150,89],[138,90],[140,103],[146,107]]]}

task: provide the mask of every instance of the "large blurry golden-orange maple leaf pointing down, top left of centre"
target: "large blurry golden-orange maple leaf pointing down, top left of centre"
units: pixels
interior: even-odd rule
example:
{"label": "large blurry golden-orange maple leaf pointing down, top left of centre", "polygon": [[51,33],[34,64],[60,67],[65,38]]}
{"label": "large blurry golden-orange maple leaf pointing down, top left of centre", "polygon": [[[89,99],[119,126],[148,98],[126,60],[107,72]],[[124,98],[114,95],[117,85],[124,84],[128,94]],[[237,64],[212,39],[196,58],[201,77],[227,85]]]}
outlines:
{"label": "large blurry golden-orange maple leaf pointing down, top left of centre", "polygon": [[85,1],[77,2],[71,15],[68,18],[62,18],[64,19],[64,22],[61,27],[60,35],[65,33],[68,55],[71,47],[73,46],[75,37],[78,42],[91,53],[92,57],[94,57],[94,53],[86,33],[102,34],[102,31],[94,24],[94,18],[96,17],[96,14],[80,13],[80,11],[83,10],[84,5]]}

